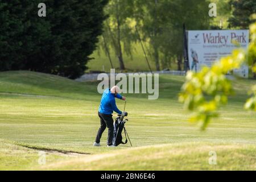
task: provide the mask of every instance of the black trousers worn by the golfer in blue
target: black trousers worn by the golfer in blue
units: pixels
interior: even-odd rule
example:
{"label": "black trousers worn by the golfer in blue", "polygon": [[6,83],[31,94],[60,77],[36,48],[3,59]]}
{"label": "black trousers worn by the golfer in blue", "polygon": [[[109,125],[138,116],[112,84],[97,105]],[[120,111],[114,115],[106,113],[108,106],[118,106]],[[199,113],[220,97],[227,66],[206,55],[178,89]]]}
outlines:
{"label": "black trousers worn by the golfer in blue", "polygon": [[98,117],[101,120],[101,127],[98,129],[98,134],[95,142],[100,143],[102,133],[105,131],[106,127],[108,127],[108,145],[112,146],[113,136],[114,136],[114,121],[112,118],[112,114],[102,114],[98,112]]}

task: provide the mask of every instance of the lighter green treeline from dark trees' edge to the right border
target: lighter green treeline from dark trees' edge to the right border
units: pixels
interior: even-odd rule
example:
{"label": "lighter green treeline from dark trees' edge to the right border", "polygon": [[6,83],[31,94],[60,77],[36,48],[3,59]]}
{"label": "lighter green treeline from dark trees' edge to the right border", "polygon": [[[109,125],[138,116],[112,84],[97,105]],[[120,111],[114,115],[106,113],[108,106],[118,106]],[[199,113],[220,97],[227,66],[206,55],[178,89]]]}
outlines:
{"label": "lighter green treeline from dark trees' edge to the right border", "polygon": [[[216,17],[209,16],[210,3],[216,5]],[[256,1],[110,0],[105,12],[109,18],[105,20],[100,45],[107,54],[114,50],[120,70],[126,69],[124,53],[131,58],[138,53],[134,49],[139,43],[135,26],[146,54],[155,63],[154,69],[159,71],[177,64],[181,70],[183,24],[187,30],[248,29],[253,22],[251,15],[256,13]]]}

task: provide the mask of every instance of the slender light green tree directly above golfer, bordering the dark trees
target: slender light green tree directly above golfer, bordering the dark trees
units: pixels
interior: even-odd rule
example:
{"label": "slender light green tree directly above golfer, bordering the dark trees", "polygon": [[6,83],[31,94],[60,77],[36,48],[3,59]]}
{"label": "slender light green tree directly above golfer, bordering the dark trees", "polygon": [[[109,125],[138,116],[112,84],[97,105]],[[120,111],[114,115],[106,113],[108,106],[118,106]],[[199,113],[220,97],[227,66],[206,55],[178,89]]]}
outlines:
{"label": "slender light green tree directly above golfer, bordering the dark trees", "polygon": [[108,19],[104,22],[104,40],[102,47],[111,47],[118,57],[119,68],[125,69],[123,53],[131,56],[131,44],[135,42],[134,27],[130,24],[133,22],[133,1],[130,0],[112,0],[105,7],[105,13]]}

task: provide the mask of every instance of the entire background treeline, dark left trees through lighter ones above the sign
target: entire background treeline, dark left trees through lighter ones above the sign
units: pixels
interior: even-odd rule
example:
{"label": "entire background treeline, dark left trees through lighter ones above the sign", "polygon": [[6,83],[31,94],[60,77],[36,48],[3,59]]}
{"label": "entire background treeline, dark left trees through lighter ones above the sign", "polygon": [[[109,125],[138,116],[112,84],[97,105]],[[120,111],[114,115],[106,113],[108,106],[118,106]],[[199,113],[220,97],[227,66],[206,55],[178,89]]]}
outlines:
{"label": "entire background treeline, dark left trees through lighter ones above the sign", "polygon": [[[208,14],[210,2],[217,17]],[[46,16],[39,16],[39,3],[46,5]],[[139,36],[156,70],[171,62],[181,70],[183,24],[187,30],[245,29],[255,11],[255,0],[0,0],[0,71],[79,77],[98,38],[124,70],[123,54],[133,56]]]}

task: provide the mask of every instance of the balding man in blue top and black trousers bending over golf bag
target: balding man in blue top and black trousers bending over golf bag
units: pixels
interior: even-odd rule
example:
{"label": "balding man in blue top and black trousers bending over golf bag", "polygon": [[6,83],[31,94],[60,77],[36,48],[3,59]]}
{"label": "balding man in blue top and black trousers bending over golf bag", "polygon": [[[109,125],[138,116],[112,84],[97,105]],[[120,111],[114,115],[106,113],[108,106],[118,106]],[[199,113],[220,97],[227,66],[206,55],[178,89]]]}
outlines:
{"label": "balding man in blue top and black trousers bending over golf bag", "polygon": [[105,131],[106,127],[108,127],[108,147],[115,147],[112,143],[113,141],[113,135],[114,135],[114,121],[112,118],[112,113],[115,111],[115,113],[127,115],[126,112],[120,111],[117,108],[117,105],[115,105],[115,98],[119,98],[123,101],[126,100],[125,97],[122,97],[120,94],[120,89],[118,86],[113,86],[111,89],[106,89],[101,97],[101,104],[98,109],[98,117],[100,117],[101,121],[101,127],[98,129],[98,134],[96,137],[95,142],[93,143],[93,146],[101,146],[100,145],[100,139],[102,133]]}

